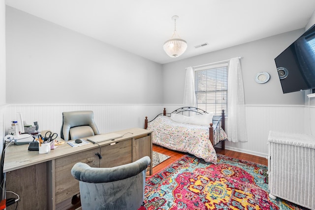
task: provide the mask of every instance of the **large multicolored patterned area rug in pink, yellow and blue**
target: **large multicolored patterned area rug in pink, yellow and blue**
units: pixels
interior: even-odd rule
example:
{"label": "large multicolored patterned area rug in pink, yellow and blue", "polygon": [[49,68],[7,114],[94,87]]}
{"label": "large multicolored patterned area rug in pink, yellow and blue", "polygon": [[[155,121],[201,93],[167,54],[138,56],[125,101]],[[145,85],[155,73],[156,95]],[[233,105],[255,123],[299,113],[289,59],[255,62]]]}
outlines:
{"label": "large multicolored patterned area rug in pink, yellow and blue", "polygon": [[182,158],[148,178],[141,210],[301,210],[269,199],[267,166],[218,154],[218,164]]}

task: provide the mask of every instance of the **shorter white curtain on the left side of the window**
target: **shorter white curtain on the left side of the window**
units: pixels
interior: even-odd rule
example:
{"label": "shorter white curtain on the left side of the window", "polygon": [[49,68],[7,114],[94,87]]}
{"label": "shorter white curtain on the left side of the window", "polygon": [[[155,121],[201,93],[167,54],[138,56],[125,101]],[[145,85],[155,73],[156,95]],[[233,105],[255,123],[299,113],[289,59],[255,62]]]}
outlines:
{"label": "shorter white curtain on the left side of the window", "polygon": [[184,106],[197,107],[195,95],[195,81],[192,67],[186,68],[186,80],[184,88]]}

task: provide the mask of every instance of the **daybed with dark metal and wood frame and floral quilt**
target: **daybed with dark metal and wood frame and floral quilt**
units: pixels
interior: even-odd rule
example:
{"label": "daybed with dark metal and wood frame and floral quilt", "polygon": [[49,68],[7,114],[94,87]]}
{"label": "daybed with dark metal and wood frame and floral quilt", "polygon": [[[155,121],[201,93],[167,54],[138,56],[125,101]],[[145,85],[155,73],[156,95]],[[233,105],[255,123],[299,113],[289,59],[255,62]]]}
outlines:
{"label": "daybed with dark metal and wood frame and floral quilt", "polygon": [[209,163],[217,163],[214,146],[224,140],[224,110],[221,116],[214,116],[197,107],[181,107],[170,113],[164,108],[153,120],[145,118],[144,128],[153,131],[152,142],[160,146],[188,152]]}

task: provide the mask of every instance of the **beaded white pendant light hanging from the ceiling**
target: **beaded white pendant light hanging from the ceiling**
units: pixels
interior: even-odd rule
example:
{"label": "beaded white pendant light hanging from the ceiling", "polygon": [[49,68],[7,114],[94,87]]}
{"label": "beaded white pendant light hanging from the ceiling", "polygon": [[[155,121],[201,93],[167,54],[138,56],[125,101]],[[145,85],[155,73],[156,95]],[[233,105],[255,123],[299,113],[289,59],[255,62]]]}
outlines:
{"label": "beaded white pendant light hanging from the ceiling", "polygon": [[174,32],[171,39],[165,41],[163,45],[163,49],[166,54],[172,58],[176,58],[182,55],[187,49],[187,42],[184,39],[181,39],[176,31],[176,20],[179,17],[174,15],[172,20],[175,22]]}

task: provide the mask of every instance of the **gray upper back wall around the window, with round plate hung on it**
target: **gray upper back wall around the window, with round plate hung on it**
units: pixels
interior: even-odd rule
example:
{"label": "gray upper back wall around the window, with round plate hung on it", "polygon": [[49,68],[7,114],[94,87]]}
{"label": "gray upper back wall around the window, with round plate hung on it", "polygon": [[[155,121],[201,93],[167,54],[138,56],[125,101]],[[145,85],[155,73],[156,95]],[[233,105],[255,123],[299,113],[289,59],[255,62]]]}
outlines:
{"label": "gray upper back wall around the window, with round plate hung on it", "polygon": [[[304,29],[300,29],[164,64],[163,103],[183,103],[185,68],[242,57],[241,67],[246,105],[304,105],[304,92],[283,94],[274,61],[304,31]],[[265,84],[258,84],[254,81],[254,76],[260,71],[267,71],[270,74],[270,80]]]}

